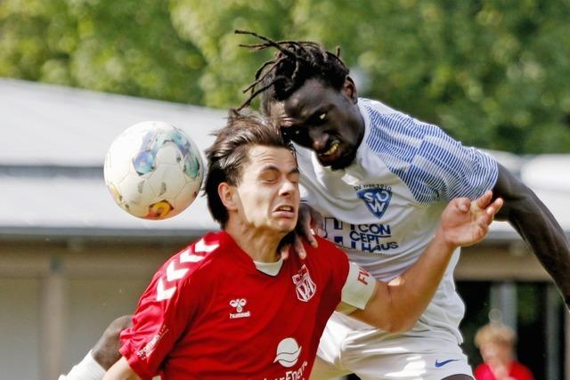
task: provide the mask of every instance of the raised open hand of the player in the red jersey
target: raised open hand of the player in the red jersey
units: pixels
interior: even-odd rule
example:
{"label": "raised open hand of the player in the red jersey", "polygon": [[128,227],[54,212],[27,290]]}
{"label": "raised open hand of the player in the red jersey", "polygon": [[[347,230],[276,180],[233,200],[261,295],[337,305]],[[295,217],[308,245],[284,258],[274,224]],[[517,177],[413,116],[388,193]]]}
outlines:
{"label": "raised open hand of the player in the red jersey", "polygon": [[493,201],[491,190],[474,201],[455,198],[444,209],[439,233],[453,247],[471,246],[485,238],[502,204],[501,198]]}

